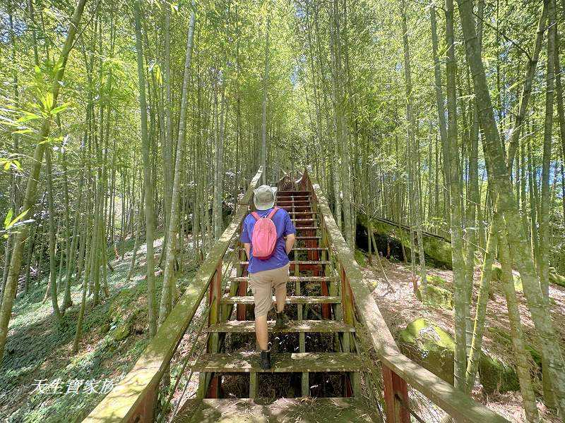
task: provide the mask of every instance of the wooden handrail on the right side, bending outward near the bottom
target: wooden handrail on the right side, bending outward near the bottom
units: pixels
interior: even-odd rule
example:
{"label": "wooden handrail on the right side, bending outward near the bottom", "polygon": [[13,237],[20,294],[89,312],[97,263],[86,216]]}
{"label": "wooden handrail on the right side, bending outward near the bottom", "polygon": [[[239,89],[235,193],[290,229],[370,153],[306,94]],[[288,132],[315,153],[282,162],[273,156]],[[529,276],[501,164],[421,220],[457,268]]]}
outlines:
{"label": "wooden handrail on the right side, bending outward near the bottom", "polygon": [[383,319],[379,306],[373,298],[372,290],[369,288],[371,281],[369,278],[364,277],[361,268],[355,261],[353,252],[345,242],[340,229],[333,219],[328,200],[324,197],[318,181],[316,178],[310,178],[308,172],[305,171],[303,176],[304,182],[307,184],[307,189],[314,194],[321,219],[323,220],[322,224],[326,228],[329,241],[333,247],[332,250],[335,252],[335,257],[345,273],[347,281],[350,283],[359,319],[366,326],[371,338],[371,344],[383,366],[388,367],[388,369],[404,379],[413,388],[432,400],[433,403],[453,417],[456,422],[509,423],[504,417],[472,400],[463,391],[459,391],[432,372],[429,372],[429,370],[424,369],[420,364],[413,362],[400,353],[396,341],[394,341],[392,333]]}

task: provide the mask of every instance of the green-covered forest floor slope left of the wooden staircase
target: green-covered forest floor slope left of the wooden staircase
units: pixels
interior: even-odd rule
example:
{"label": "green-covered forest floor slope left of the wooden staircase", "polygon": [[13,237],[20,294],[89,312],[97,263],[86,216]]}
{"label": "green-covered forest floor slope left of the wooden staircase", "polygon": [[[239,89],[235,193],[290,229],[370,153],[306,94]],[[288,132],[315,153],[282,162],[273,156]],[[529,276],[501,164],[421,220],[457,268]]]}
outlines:
{"label": "green-covered forest floor slope left of the wooden staircase", "polygon": [[[161,244],[162,238],[155,240],[157,259]],[[109,297],[102,295],[97,306],[93,306],[92,297],[88,298],[78,353],[72,353],[72,345],[81,284],[72,286],[73,306],[67,309],[60,326],[52,314],[51,300],[43,302],[47,279],[16,299],[0,372],[1,422],[81,422],[133,367],[148,343],[146,245],[138,250],[130,281],[126,281],[126,275],[133,239],[117,248],[119,252],[125,249],[126,254],[123,260],[111,257],[114,271],[108,271]],[[177,282],[186,283],[191,274],[187,269]],[[162,276],[155,279],[156,292],[160,293]],[[58,298],[61,304],[63,293],[59,292]],[[76,381],[82,382],[78,391]]]}

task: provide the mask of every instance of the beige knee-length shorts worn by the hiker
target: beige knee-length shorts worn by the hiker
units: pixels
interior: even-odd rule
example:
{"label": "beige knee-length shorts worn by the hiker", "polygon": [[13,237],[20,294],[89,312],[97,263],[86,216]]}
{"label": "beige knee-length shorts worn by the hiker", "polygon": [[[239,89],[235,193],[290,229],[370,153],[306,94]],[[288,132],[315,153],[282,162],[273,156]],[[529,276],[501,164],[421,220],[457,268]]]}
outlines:
{"label": "beige knee-length shorts worn by the hiker", "polygon": [[273,308],[273,288],[275,295],[286,295],[288,269],[290,264],[271,270],[249,274],[249,285],[255,300],[255,317],[266,316]]}

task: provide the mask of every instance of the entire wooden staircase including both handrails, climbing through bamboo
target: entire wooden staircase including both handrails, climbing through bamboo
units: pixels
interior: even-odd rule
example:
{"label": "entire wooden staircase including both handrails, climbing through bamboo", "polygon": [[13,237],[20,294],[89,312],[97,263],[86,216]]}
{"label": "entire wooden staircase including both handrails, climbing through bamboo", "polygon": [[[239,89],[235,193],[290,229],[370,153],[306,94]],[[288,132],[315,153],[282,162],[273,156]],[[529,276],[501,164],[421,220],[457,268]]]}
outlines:
{"label": "entire wooden staircase including both handrails, climbing through bamboo", "polygon": [[[275,331],[270,321],[273,368],[261,369],[238,231],[262,173],[259,168],[251,179],[232,221],[136,363],[83,422],[153,423],[172,417],[177,423],[410,423],[449,416],[463,423],[509,423],[400,352],[373,298],[376,281],[355,262],[308,171],[297,182],[286,174],[278,184],[277,204],[287,209],[298,232],[287,287],[292,323]],[[190,391],[185,396],[194,372],[196,398]],[[230,390],[233,381],[238,383]],[[365,397],[372,398],[370,407]],[[443,416],[437,414],[440,408]],[[422,419],[419,413],[427,414]]]}

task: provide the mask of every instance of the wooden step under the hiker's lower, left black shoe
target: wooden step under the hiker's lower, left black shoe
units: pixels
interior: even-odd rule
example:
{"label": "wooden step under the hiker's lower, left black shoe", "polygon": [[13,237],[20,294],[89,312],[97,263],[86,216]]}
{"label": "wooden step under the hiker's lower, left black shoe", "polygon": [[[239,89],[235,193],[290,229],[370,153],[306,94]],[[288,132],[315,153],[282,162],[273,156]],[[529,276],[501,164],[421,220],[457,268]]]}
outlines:
{"label": "wooden step under the hiker's lower, left black shoe", "polygon": [[273,367],[261,369],[259,353],[204,354],[191,368],[195,372],[293,373],[359,372],[364,369],[359,355],[352,353],[281,353],[271,355]]}

